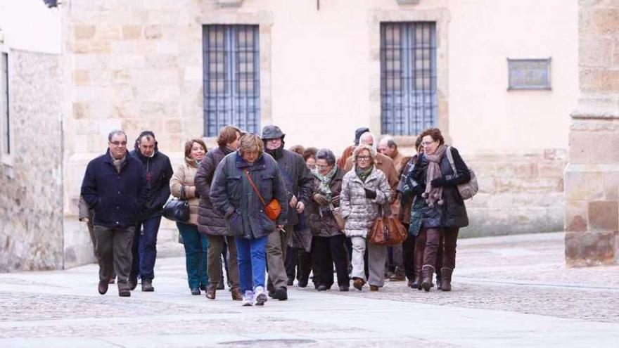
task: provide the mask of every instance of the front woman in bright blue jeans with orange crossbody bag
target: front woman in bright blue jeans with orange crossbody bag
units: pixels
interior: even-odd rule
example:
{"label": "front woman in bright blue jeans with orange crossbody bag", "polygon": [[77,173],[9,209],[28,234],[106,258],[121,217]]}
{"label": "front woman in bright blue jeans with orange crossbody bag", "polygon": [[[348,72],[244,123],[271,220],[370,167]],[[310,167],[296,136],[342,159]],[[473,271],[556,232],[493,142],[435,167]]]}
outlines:
{"label": "front woman in bright blue jeans with orange crossbody bag", "polygon": [[[277,162],[263,153],[259,136],[245,134],[238,150],[219,162],[209,198],[226,218],[227,233],[236,240],[243,306],[261,306],[267,302],[267,236],[286,224],[289,198]],[[275,220],[267,217],[263,203],[273,199],[281,206]]]}

